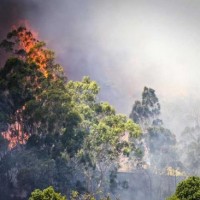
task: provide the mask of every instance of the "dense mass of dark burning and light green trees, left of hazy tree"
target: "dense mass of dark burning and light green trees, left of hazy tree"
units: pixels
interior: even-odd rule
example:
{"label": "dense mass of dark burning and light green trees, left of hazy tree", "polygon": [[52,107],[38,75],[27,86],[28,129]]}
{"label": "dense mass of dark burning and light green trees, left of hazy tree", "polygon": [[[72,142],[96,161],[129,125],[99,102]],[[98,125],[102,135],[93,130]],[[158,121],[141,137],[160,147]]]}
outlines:
{"label": "dense mass of dark burning and light green trees, left of hazy tree", "polygon": [[[54,53],[26,28],[8,33],[1,47],[8,58],[0,70],[1,198],[27,199],[50,185],[68,196],[107,192],[119,158],[137,150],[140,127],[99,102],[89,77],[67,81]],[[43,195],[30,199],[36,193]]]}

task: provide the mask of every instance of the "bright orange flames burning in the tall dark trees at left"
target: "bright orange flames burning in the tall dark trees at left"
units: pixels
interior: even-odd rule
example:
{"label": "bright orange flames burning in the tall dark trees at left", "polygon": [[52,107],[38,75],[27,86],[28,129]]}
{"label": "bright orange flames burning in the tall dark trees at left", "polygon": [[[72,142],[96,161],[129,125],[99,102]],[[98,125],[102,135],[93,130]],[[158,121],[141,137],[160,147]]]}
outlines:
{"label": "bright orange flames burning in the tall dark trees at left", "polygon": [[[27,21],[23,21],[20,24],[25,24],[30,29]],[[28,63],[35,63],[39,67],[39,71],[47,77],[47,63],[51,58],[51,52],[45,48],[44,43],[37,40],[38,34],[32,29],[31,31],[28,29],[22,26],[13,26],[7,39],[15,43],[14,52],[17,52],[21,59],[24,59]],[[23,109],[25,109],[25,106],[22,107]],[[1,134],[9,141],[9,149],[14,148],[17,144],[25,144],[29,138],[29,134],[23,132],[22,125],[18,121],[11,124],[8,130]]]}

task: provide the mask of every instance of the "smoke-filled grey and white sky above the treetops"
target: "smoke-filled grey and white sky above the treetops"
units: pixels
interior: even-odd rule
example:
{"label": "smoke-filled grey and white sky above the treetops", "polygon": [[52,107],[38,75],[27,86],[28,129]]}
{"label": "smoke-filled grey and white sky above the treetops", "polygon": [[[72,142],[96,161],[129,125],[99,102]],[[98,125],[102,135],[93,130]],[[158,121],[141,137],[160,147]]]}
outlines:
{"label": "smoke-filled grey and white sky above the treetops", "polygon": [[130,113],[144,86],[174,130],[200,105],[199,0],[0,0],[0,35],[21,19],[69,79],[91,76],[119,112]]}

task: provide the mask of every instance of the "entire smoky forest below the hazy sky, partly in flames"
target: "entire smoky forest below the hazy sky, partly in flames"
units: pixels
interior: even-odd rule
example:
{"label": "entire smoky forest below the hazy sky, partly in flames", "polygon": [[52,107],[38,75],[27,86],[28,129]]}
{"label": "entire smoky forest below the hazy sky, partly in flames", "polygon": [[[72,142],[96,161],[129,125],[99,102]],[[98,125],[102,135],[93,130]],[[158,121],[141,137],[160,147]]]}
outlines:
{"label": "entire smoky forest below the hazy sky, partly in flames", "polygon": [[[0,47],[1,200],[128,200],[119,192],[130,192],[123,173],[148,174],[151,188],[135,182],[150,200],[200,198],[198,119],[177,142],[154,89],[144,86],[126,116],[100,101],[90,77],[69,80],[26,27],[12,29]],[[159,177],[176,182],[157,197]]]}

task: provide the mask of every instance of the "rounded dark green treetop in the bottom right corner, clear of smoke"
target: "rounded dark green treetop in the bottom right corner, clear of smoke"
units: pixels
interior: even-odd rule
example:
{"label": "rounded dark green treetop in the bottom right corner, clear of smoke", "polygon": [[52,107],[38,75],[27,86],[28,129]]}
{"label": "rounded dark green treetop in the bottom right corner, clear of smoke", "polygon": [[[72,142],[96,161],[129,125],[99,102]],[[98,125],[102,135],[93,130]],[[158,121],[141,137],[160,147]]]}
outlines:
{"label": "rounded dark green treetop in the bottom right corner, clear of smoke", "polygon": [[200,178],[196,176],[180,182],[176,188],[175,194],[167,200],[197,200],[200,199]]}

